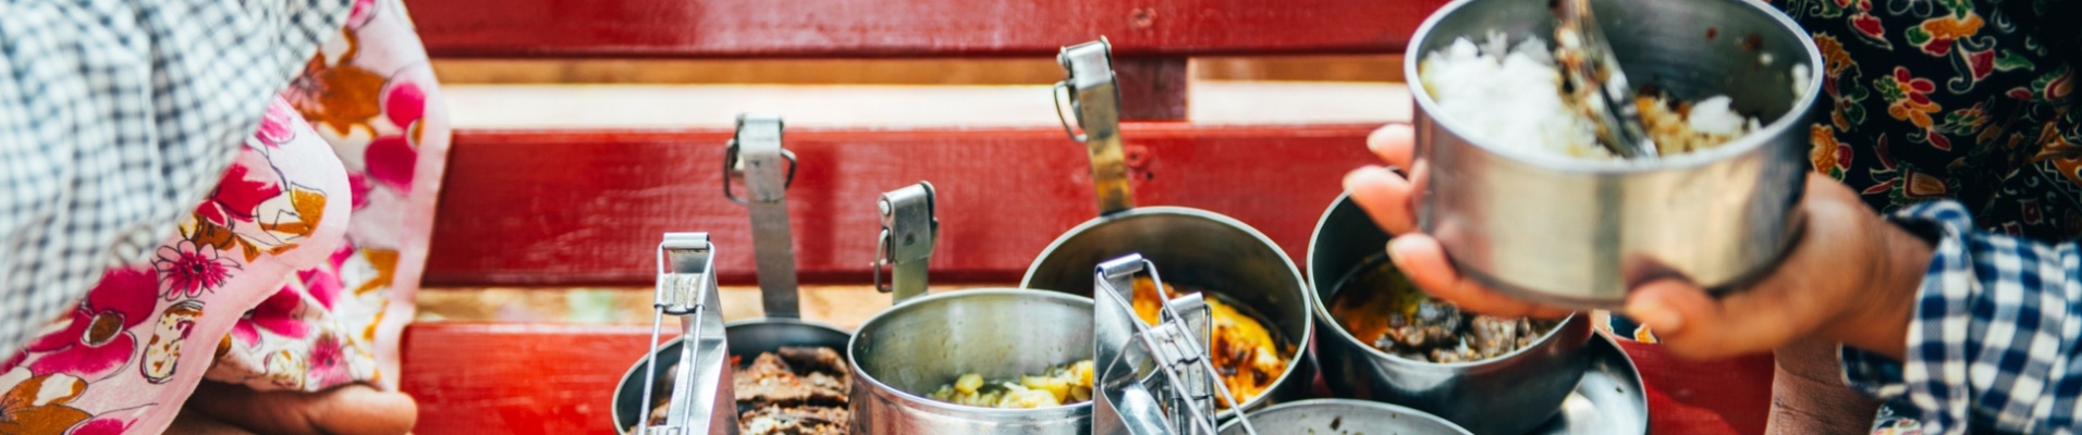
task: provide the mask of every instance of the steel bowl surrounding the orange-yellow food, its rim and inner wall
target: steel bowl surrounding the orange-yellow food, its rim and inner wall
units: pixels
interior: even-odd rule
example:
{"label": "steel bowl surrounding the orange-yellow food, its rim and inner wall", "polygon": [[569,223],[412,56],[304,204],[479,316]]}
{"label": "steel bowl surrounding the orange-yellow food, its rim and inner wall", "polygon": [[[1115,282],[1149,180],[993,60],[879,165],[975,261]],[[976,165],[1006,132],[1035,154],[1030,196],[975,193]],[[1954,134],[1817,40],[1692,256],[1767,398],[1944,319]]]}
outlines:
{"label": "steel bowl surrounding the orange-yellow food, its rim and inner wall", "polygon": [[1307,283],[1287,252],[1235,219],[1197,208],[1141,206],[1085,221],[1035,258],[1020,287],[1089,298],[1093,268],[1135,252],[1172,285],[1201,287],[1230,306],[1255,310],[1266,329],[1293,348],[1287,373],[1264,395],[1245,400],[1243,410],[1307,395],[1316,375],[1305,352],[1316,333]]}

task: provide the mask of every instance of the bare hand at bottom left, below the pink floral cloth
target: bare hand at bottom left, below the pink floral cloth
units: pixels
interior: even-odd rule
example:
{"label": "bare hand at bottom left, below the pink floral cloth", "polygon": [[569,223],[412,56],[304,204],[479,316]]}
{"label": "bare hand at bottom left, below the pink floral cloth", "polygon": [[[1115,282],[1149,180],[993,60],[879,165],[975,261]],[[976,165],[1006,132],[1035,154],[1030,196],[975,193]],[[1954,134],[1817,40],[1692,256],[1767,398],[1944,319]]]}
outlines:
{"label": "bare hand at bottom left, below the pink floral cloth", "polygon": [[[187,433],[398,435],[418,420],[412,395],[352,383],[327,391],[252,391],[202,381],[173,429]],[[173,431],[169,429],[169,431]]]}

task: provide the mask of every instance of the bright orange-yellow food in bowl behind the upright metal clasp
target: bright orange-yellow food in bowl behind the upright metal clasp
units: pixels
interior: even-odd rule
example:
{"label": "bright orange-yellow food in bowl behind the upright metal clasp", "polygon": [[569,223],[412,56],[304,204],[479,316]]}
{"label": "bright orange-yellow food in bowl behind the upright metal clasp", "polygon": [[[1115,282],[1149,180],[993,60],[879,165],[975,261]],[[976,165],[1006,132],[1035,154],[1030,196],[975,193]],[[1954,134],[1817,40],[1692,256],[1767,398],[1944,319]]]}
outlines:
{"label": "bright orange-yellow food in bowl behind the upright metal clasp", "polygon": [[[1199,289],[1187,287],[1187,293],[1201,293]],[[1164,283],[1164,293],[1172,298],[1185,296],[1170,283]],[[1208,293],[1214,296],[1214,293]],[[1158,325],[1158,312],[1162,312],[1162,302],[1158,298],[1156,281],[1149,277],[1135,277],[1135,314],[1149,325]],[[1208,298],[1208,312],[1214,314],[1214,343],[1208,343],[1208,362],[1214,370],[1222,375],[1222,385],[1237,402],[1249,402],[1272,389],[1272,381],[1287,373],[1287,362],[1293,360],[1293,348],[1283,346],[1283,341],[1272,339],[1266,331],[1266,323],[1258,316],[1237,310],[1237,306],[1224,304],[1216,298]],[[1220,402],[1220,408],[1228,408],[1228,402]]]}

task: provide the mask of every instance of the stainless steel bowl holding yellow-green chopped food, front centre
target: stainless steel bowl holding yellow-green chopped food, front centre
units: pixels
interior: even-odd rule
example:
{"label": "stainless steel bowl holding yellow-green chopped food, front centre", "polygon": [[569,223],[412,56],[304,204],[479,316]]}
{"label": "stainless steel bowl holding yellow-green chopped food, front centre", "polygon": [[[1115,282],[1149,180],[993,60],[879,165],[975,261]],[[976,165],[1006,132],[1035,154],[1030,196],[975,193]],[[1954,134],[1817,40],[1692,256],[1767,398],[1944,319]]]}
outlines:
{"label": "stainless steel bowl holding yellow-green chopped food, front centre", "polygon": [[999,410],[926,398],[966,373],[1041,373],[1091,358],[1091,298],[964,289],[897,304],[849,346],[854,433],[1091,433],[1091,402]]}

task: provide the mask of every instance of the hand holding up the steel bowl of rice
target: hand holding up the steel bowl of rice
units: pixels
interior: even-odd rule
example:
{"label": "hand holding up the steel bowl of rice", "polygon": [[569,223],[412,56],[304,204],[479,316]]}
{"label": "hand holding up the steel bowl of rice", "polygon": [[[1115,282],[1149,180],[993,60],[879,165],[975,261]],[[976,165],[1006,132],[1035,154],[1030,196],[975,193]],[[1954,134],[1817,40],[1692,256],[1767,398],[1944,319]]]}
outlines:
{"label": "hand holding up the steel bowl of rice", "polygon": [[[1557,318],[1570,308],[1512,300],[1462,277],[1437,239],[1416,231],[1416,191],[1426,167],[1414,164],[1414,135],[1389,125],[1368,148],[1412,177],[1380,167],[1345,175],[1345,189],[1374,223],[1395,235],[1389,258],[1412,283],[1466,310],[1493,316]],[[1901,358],[1930,246],[1876,216],[1834,179],[1809,175],[1797,246],[1761,281],[1711,296],[1682,279],[1661,279],[1628,291],[1624,312],[1647,325],[1676,356],[1726,358],[1768,352],[1799,337],[1843,341]]]}

